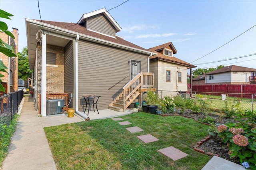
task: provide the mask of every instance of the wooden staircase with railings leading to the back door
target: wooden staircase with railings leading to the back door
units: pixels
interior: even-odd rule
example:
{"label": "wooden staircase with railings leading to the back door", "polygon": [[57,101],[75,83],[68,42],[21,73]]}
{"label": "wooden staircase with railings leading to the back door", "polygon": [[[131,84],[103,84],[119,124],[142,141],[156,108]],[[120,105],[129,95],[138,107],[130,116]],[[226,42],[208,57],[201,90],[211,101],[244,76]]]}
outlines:
{"label": "wooden staircase with railings leading to the back door", "polygon": [[142,103],[142,92],[154,90],[154,73],[140,72],[124,87],[122,92],[109,104],[109,109],[115,111],[125,111],[126,108],[140,96]]}

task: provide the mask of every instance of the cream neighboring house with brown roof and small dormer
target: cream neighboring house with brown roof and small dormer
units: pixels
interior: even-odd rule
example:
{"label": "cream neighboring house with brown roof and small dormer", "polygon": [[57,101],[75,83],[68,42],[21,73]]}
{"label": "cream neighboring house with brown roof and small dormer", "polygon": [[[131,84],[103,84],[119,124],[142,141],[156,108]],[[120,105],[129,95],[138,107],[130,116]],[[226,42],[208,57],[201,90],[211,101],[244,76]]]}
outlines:
{"label": "cream neighboring house with brown roof and small dormer", "polygon": [[188,69],[195,68],[193,64],[182,61],[174,54],[177,53],[172,42],[165,43],[148,49],[156,53],[150,57],[150,72],[155,74],[155,88],[162,92],[162,96],[170,94],[167,91],[173,91],[176,95],[180,91],[188,91]]}

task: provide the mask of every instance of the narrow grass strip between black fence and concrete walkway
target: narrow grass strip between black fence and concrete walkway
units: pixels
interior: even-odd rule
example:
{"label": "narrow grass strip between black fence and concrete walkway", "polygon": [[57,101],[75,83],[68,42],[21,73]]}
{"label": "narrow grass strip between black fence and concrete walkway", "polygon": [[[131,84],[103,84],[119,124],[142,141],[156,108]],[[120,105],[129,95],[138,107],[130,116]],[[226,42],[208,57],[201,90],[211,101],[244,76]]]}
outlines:
{"label": "narrow grass strip between black fence and concrete walkway", "polygon": [[12,135],[16,130],[18,117],[19,115],[16,114],[8,127],[1,124],[4,130],[0,132],[0,166],[2,166],[4,158],[8,153],[8,147],[11,143]]}

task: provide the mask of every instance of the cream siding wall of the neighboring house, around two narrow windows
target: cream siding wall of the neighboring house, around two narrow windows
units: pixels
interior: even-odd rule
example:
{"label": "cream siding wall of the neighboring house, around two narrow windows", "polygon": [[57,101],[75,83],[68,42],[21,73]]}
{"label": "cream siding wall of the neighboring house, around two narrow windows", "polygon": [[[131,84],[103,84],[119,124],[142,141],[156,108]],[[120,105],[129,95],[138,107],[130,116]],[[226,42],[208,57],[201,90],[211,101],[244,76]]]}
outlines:
{"label": "cream siding wall of the neighboring house, around two narrow windows", "polygon": [[[171,72],[171,82],[166,82],[166,70]],[[182,74],[182,81],[178,81],[178,72]],[[158,61],[158,90],[186,91],[187,88],[187,68],[184,66]],[[156,78],[156,74],[155,74]],[[177,86],[177,88],[176,88]]]}

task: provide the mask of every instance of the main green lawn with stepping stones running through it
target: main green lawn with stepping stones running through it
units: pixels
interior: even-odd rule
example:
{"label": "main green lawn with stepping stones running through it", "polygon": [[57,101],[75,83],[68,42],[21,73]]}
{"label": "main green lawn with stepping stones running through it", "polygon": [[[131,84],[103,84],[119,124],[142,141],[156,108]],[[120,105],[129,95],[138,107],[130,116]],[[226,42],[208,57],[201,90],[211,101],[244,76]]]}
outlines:
{"label": "main green lawn with stepping stones running through it", "polygon": [[[45,128],[59,170],[200,170],[210,156],[192,149],[208,135],[208,126],[184,117],[162,117],[149,113],[122,116],[131,125],[112,119],[93,120]],[[126,127],[144,131],[130,133]],[[137,136],[151,134],[160,139],[143,143]],[[188,154],[173,161],[159,149],[173,146]]]}

